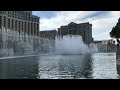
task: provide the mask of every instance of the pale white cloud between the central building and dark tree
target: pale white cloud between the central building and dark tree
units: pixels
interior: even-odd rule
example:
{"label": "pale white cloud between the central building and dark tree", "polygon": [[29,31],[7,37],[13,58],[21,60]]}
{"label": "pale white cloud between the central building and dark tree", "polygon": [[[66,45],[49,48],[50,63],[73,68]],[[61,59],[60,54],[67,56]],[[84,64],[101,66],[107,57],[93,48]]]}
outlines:
{"label": "pale white cloud between the central building and dark tree", "polygon": [[113,26],[116,25],[119,16],[111,16],[109,14],[107,17],[99,18],[91,21],[93,24],[93,37],[95,40],[110,39],[109,32],[112,30]]}

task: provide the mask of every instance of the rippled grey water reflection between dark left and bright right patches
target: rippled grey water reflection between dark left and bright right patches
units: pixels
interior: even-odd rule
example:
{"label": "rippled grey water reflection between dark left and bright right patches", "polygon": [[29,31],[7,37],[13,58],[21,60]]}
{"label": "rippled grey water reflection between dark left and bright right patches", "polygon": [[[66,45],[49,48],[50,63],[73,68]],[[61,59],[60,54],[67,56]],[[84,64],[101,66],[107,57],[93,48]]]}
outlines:
{"label": "rippled grey water reflection between dark left and bright right patches", "polygon": [[52,55],[39,57],[39,78],[92,78],[91,55]]}

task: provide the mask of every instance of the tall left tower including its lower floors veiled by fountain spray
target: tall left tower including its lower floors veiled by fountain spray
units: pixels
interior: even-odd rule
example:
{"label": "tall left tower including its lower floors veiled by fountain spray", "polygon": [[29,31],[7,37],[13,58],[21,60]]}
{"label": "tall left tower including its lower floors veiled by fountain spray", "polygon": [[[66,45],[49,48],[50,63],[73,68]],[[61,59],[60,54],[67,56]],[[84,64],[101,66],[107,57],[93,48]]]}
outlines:
{"label": "tall left tower including its lower floors veiled by fountain spray", "polygon": [[38,53],[39,17],[32,11],[0,11],[0,57]]}

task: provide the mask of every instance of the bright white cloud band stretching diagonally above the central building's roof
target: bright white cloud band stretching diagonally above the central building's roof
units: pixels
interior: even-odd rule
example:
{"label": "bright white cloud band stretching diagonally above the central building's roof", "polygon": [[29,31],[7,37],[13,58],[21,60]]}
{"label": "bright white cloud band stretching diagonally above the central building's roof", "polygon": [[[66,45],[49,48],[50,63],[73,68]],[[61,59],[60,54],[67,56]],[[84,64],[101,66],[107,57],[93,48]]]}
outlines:
{"label": "bright white cloud band stretching diagonally above the central building's roof", "polygon": [[55,13],[55,16],[52,18],[43,18],[40,20],[40,30],[51,30],[57,29],[61,25],[67,25],[70,22],[83,22],[80,20],[88,15],[95,13],[92,12],[84,12],[84,11],[59,11]]}

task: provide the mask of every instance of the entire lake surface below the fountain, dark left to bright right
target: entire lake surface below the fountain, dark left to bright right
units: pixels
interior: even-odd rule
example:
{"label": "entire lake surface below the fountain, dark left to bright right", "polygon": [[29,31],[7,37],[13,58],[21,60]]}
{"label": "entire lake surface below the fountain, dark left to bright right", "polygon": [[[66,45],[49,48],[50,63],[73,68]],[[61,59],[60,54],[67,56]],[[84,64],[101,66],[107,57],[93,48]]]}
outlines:
{"label": "entire lake surface below the fountain, dark left to bright right", "polygon": [[0,79],[118,79],[115,53],[0,59]]}

